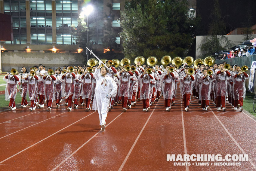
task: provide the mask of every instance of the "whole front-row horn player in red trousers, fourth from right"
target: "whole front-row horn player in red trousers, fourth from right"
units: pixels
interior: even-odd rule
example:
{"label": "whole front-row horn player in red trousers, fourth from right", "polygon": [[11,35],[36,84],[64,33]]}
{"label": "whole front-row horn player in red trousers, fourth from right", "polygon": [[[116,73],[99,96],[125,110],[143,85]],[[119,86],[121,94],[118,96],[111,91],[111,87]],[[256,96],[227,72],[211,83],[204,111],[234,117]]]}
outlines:
{"label": "whole front-row horn player in red trousers, fourth from right", "polygon": [[185,111],[189,111],[190,96],[192,93],[192,83],[195,78],[193,75],[188,74],[189,66],[185,66],[184,73],[180,75],[180,83],[182,83],[181,94],[183,96],[183,102]]}

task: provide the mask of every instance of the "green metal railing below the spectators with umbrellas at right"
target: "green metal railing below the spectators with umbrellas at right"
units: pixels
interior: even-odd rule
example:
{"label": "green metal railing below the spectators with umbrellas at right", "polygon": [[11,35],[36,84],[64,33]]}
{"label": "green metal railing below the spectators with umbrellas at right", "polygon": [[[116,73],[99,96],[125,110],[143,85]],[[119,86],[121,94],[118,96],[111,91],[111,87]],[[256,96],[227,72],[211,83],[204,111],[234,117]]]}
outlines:
{"label": "green metal railing below the spectators with umbrellas at right", "polygon": [[248,68],[251,68],[252,61],[256,61],[256,55],[251,56],[242,56],[242,57],[236,57],[236,58],[229,58],[225,60],[216,60],[216,63],[222,63],[223,61],[226,61],[230,65],[239,65],[243,66],[246,65]]}

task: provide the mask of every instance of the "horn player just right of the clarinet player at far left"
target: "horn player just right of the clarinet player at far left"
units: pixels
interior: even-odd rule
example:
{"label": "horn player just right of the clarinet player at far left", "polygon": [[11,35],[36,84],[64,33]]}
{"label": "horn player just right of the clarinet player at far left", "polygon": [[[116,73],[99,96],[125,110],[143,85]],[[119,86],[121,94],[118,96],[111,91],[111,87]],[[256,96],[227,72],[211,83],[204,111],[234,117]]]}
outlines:
{"label": "horn player just right of the clarinet player at far left", "polygon": [[[32,73],[34,73],[34,75]],[[29,99],[31,101],[29,111],[33,111],[36,108],[35,101],[38,96],[37,81],[39,80],[35,75],[35,69],[30,70],[30,75],[27,75],[25,80],[28,81]]]}

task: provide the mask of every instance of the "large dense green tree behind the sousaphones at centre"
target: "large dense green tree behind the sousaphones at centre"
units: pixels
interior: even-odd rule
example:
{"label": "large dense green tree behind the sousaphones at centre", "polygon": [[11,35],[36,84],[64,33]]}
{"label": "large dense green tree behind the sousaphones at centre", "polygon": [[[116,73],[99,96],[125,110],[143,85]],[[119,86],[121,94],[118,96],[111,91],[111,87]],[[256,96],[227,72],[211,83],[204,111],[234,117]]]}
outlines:
{"label": "large dense green tree behind the sousaphones at centre", "polygon": [[187,0],[131,0],[121,12],[120,37],[125,57],[186,56],[196,19]]}

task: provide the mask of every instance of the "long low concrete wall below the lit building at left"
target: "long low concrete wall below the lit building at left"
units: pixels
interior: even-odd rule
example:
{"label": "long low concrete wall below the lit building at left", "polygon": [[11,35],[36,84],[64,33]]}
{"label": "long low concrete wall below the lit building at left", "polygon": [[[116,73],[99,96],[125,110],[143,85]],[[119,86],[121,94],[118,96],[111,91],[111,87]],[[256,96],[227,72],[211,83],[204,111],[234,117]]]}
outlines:
{"label": "long low concrete wall below the lit building at left", "polygon": [[86,58],[82,53],[2,53],[2,72],[10,72],[11,68],[18,71],[22,66],[27,69],[34,65],[43,64],[46,69],[57,69],[58,66],[64,65],[82,65],[84,66]]}

